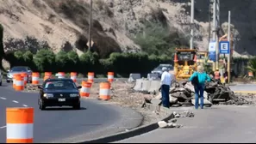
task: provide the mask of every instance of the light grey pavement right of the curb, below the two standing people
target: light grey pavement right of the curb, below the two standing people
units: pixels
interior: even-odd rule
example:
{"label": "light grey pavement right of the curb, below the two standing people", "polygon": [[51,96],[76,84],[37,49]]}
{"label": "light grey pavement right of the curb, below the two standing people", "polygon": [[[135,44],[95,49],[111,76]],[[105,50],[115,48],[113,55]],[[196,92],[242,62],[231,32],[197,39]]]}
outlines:
{"label": "light grey pavement right of the curb, below the two standing people", "polygon": [[181,129],[156,129],[118,143],[249,143],[256,141],[255,107],[214,106],[179,118]]}

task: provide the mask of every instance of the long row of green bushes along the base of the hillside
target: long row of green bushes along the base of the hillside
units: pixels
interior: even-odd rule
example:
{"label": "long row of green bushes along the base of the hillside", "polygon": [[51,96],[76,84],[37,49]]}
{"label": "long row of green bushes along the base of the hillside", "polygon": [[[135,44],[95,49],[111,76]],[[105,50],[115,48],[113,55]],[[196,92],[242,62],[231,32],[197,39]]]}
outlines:
{"label": "long row of green bushes along the base of the hillside", "polygon": [[172,63],[172,58],[167,55],[160,57],[148,56],[147,53],[112,53],[109,58],[99,59],[96,52],[85,52],[80,57],[75,51],[59,51],[54,55],[53,51],[41,49],[33,57],[31,51],[16,51],[6,55],[12,66],[26,65],[34,71],[51,71],[57,73],[78,72],[87,75],[93,71],[97,75],[107,75],[109,71],[119,76],[128,76],[130,73],[146,75],[159,63]]}

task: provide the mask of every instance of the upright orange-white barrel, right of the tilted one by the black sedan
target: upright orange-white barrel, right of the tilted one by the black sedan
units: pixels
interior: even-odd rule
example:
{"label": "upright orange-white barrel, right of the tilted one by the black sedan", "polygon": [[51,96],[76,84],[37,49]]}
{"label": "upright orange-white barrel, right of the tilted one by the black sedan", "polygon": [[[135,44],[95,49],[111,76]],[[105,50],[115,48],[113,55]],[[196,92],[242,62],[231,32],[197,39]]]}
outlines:
{"label": "upright orange-white barrel, right of the tilted one by the black sedan", "polygon": [[100,83],[99,99],[109,100],[110,99],[110,86],[109,82]]}

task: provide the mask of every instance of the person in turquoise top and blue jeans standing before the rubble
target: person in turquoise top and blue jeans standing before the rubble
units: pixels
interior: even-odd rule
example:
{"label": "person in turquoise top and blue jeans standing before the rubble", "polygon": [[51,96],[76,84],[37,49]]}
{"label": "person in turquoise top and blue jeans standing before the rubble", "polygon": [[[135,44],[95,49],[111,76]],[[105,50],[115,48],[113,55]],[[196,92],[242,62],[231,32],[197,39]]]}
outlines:
{"label": "person in turquoise top and blue jeans standing before the rubble", "polygon": [[210,81],[210,77],[204,72],[203,67],[199,65],[197,71],[190,76],[189,81],[195,88],[195,108],[198,109],[198,103],[200,98],[200,107],[203,109],[203,92],[205,87],[205,81]]}

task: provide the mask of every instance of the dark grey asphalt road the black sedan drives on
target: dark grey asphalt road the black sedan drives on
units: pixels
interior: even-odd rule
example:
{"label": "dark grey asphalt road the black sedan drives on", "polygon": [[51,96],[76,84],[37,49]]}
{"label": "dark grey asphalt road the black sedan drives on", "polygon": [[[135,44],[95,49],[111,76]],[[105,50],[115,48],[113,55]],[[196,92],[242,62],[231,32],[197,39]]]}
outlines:
{"label": "dark grey asphalt road the black sedan drives on", "polygon": [[[141,123],[140,114],[99,100],[83,99],[82,110],[68,108],[40,111],[37,105],[38,93],[15,92],[6,83],[0,87],[0,92],[0,143],[6,140],[6,107],[34,107],[34,142],[82,141],[87,134],[93,137],[92,133],[103,132],[104,128],[115,124],[119,129],[110,128],[109,132],[130,129]],[[123,129],[120,129],[122,126]],[[72,139],[74,135],[81,135],[81,140]]]}

